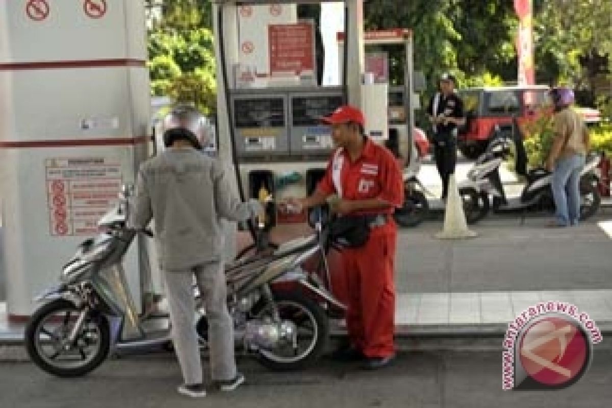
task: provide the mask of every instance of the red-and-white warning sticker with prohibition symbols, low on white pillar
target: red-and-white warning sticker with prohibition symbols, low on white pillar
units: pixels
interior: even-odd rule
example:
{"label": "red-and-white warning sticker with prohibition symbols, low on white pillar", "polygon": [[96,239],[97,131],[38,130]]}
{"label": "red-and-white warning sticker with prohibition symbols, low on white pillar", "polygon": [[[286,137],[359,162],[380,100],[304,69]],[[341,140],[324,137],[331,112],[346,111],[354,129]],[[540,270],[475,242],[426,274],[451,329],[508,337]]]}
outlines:
{"label": "red-and-white warning sticker with prohibition symbols, low on white pillar", "polygon": [[45,160],[51,236],[91,236],[118,199],[119,160],[105,157]]}

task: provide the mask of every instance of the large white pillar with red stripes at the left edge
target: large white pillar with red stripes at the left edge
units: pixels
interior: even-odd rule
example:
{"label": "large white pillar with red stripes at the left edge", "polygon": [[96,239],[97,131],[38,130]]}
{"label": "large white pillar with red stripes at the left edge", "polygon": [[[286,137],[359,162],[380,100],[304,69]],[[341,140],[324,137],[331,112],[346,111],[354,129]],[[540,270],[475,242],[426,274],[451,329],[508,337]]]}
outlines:
{"label": "large white pillar with red stripes at the left edge", "polygon": [[[0,151],[10,317],[58,281],[146,156],[144,2],[0,2]],[[138,287],[138,251],[126,258]],[[138,302],[138,298],[136,299]]]}

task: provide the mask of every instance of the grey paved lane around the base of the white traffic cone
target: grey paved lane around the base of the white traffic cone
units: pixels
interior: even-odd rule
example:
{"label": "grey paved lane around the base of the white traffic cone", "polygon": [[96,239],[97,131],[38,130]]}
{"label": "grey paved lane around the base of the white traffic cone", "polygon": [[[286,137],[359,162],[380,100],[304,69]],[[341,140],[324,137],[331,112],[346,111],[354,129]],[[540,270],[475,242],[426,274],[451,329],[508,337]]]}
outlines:
{"label": "grey paved lane around the base of the white traffic cone", "polygon": [[612,288],[612,241],[598,221],[550,229],[547,218],[494,217],[471,226],[479,237],[442,241],[431,221],[403,229],[398,242],[400,292],[541,291]]}

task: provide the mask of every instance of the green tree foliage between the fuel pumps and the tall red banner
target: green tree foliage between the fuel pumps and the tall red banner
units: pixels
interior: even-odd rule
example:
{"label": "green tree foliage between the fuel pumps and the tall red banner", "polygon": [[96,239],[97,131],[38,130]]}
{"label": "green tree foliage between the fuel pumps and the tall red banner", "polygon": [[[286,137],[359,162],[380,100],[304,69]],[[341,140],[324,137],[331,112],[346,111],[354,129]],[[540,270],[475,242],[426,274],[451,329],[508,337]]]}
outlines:
{"label": "green tree foliage between the fuel pumps and the tall red banner", "polygon": [[[460,86],[516,80],[512,2],[482,0],[371,0],[365,28],[408,28],[414,33],[414,66],[425,73],[428,92],[450,71]],[[403,83],[401,47],[389,48],[392,83]]]}

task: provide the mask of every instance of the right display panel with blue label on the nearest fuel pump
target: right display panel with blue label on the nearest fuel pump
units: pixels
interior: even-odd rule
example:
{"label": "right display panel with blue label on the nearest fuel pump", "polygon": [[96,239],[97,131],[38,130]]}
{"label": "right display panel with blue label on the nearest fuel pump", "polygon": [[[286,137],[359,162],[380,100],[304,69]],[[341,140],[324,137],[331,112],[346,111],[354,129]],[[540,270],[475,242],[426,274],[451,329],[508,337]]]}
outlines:
{"label": "right display panel with blue label on the nearest fuel pump", "polygon": [[291,152],[327,154],[334,147],[329,126],[321,124],[343,103],[338,94],[304,94],[291,97]]}

